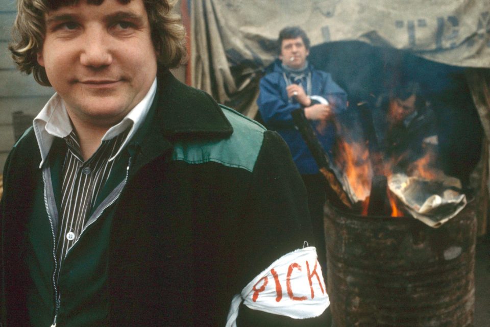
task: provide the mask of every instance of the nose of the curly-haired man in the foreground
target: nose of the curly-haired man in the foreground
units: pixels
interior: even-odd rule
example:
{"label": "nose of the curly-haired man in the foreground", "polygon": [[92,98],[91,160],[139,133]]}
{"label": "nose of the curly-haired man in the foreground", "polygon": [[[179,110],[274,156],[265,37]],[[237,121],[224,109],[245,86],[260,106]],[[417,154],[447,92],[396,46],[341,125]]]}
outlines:
{"label": "nose of the curly-haired man in the foreground", "polygon": [[100,29],[87,29],[85,35],[80,54],[82,65],[94,68],[110,65],[112,63],[110,36]]}

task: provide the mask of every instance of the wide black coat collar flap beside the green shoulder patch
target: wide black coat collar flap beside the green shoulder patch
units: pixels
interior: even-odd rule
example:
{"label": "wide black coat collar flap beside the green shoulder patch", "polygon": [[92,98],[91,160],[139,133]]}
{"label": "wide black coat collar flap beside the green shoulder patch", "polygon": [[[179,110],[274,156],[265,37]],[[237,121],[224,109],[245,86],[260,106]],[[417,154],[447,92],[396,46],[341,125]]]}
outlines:
{"label": "wide black coat collar flap beside the green shoulder patch", "polygon": [[178,140],[228,138],[231,123],[207,93],[179,82],[168,70],[157,76],[157,93],[145,122],[128,146],[137,154],[131,175],[162,155]]}

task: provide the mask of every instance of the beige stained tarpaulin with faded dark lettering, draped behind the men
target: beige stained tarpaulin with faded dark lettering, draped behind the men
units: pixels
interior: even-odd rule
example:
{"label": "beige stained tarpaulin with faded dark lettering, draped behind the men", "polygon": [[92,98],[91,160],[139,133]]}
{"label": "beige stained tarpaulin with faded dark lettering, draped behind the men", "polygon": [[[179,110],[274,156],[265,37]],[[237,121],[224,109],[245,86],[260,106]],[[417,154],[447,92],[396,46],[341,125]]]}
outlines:
{"label": "beige stained tarpaulin with faded dark lettering, draped behind the men", "polygon": [[192,0],[190,10],[192,84],[223,103],[255,87],[253,72],[277,57],[286,26],[303,28],[312,45],[358,40],[440,63],[490,67],[490,1]]}

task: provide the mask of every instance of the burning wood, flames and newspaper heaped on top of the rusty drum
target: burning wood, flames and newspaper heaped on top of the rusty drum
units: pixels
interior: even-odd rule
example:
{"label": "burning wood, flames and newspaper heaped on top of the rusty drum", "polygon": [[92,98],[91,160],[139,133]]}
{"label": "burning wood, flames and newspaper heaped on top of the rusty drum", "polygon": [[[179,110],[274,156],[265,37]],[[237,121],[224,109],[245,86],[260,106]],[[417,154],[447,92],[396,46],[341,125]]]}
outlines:
{"label": "burning wood, flames and newspaper heaped on top of the rusty drum", "polygon": [[352,131],[341,130],[337,124],[337,132],[344,137],[337,139],[335,162],[323,150],[303,111],[293,112],[292,116],[320,171],[348,210],[371,216],[411,215],[436,228],[467,204],[459,180],[431,168],[435,153],[430,148],[400,173],[396,163],[407,156],[402,153],[400,157],[386,158],[378,146],[370,114],[364,117],[371,121],[367,129],[371,132],[365,141],[353,141]]}

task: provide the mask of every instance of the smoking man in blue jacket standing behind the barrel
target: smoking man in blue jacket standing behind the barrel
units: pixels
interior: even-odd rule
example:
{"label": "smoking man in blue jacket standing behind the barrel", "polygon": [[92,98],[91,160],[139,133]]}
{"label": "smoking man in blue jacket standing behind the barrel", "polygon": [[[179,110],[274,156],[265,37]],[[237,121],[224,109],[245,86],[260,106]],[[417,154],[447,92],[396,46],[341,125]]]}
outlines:
{"label": "smoking man in blue jacket standing behind the barrel", "polygon": [[279,59],[273,63],[273,71],[260,81],[257,104],[266,127],[277,131],[286,141],[306,185],[318,257],[325,265],[325,178],[295,128],[291,112],[301,108],[304,110],[318,140],[330,154],[335,141],[332,121],[335,113],[346,109],[347,94],[332,80],[329,73],[316,70],[308,63],[310,40],[302,29],[284,28],[279,33],[278,45]]}

